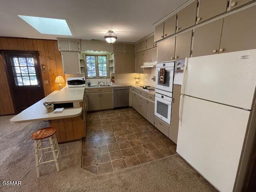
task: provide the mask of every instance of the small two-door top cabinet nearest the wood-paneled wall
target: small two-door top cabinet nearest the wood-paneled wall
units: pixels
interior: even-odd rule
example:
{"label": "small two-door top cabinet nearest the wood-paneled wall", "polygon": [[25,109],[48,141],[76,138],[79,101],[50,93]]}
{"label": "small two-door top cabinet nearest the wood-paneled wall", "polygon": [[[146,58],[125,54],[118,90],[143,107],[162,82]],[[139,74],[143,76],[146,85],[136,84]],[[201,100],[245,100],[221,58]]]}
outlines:
{"label": "small two-door top cabinet nearest the wood-paneled wall", "polygon": [[80,40],[58,39],[59,51],[80,51]]}

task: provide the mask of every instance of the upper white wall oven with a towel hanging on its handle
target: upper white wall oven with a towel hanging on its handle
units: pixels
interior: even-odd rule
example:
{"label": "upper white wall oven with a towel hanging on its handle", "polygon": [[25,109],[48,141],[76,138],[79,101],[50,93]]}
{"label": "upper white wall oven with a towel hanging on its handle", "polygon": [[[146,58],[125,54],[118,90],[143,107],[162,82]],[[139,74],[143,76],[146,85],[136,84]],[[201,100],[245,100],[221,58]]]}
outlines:
{"label": "upper white wall oven with a towel hanging on its handle", "polygon": [[[165,68],[165,82],[160,83],[160,69]],[[164,62],[156,64],[156,89],[172,92],[174,76],[174,62]]]}

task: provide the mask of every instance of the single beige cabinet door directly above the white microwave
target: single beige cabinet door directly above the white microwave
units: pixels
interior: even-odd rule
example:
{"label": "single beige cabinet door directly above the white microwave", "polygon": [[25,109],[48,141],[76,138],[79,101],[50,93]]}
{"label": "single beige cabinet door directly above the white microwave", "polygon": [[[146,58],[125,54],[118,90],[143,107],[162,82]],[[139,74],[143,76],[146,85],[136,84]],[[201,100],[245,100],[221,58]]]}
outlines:
{"label": "single beige cabinet door directly above the white microwave", "polygon": [[79,52],[63,51],[61,52],[62,65],[65,74],[79,74],[80,60]]}

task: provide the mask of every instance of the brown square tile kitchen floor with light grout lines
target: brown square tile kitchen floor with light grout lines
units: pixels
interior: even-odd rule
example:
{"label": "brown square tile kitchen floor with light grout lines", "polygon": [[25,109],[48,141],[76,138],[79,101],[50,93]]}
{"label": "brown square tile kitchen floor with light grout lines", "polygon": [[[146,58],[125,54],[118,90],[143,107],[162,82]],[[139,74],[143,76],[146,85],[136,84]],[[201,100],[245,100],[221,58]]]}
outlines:
{"label": "brown square tile kitchen floor with light grout lines", "polygon": [[82,168],[94,174],[176,153],[176,144],[133,108],[88,113]]}

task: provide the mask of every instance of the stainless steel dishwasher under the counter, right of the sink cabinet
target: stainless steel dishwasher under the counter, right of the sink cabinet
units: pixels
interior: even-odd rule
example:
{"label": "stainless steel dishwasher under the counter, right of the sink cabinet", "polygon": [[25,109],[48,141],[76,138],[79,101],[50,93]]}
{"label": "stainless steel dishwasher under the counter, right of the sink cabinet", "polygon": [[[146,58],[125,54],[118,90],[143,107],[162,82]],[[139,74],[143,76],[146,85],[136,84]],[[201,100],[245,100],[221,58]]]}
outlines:
{"label": "stainless steel dishwasher under the counter, right of the sink cabinet", "polygon": [[119,87],[114,89],[114,108],[129,106],[129,87]]}

